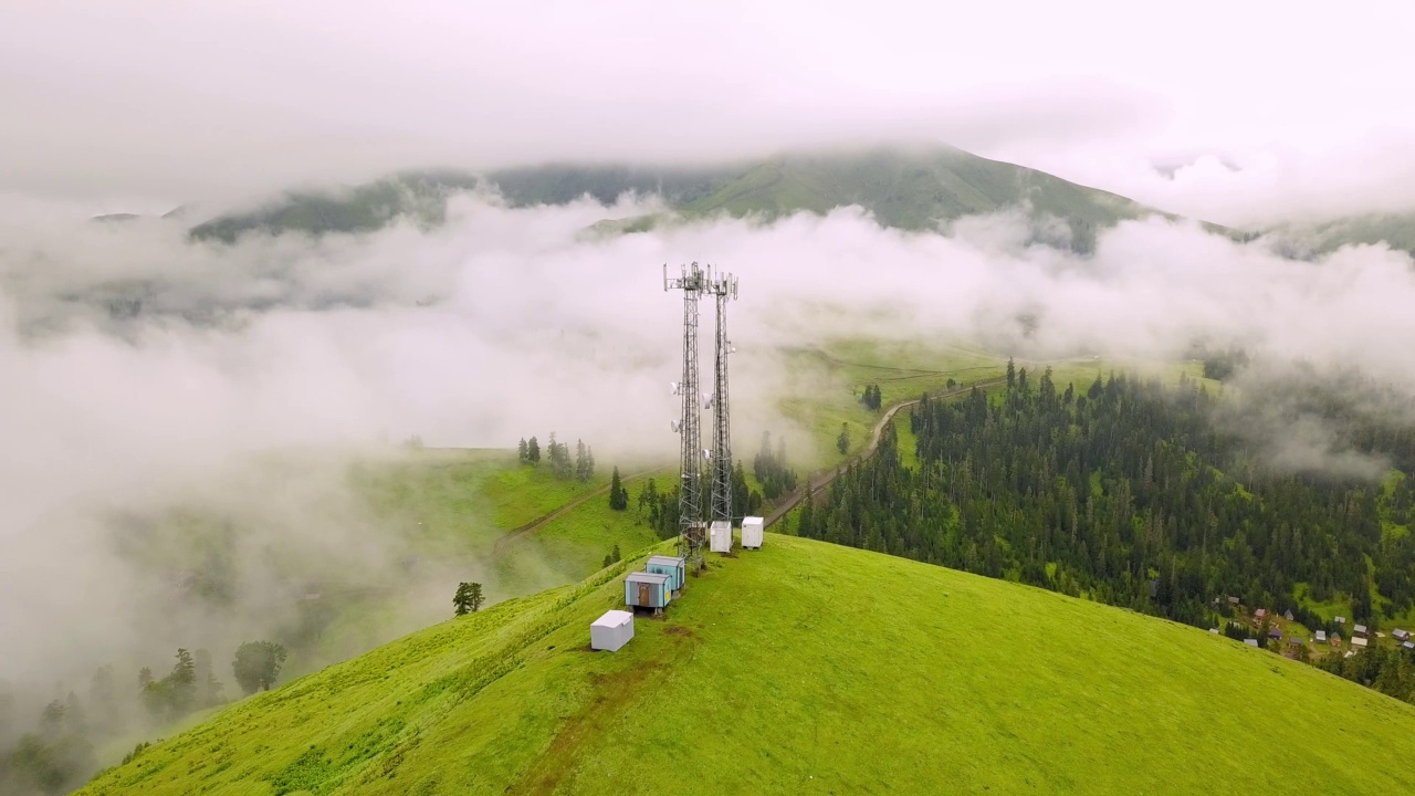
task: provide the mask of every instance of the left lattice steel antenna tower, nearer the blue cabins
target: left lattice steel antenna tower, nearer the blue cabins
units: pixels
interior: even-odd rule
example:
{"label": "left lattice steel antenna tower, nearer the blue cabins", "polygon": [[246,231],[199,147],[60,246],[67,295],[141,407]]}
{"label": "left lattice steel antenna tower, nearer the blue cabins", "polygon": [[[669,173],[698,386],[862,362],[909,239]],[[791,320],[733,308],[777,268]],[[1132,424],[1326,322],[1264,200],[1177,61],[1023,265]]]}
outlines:
{"label": "left lattice steel antenna tower, nearer the blue cabins", "polygon": [[678,554],[689,568],[700,568],[708,531],[703,523],[702,465],[708,452],[702,446],[702,404],[698,395],[698,299],[708,290],[710,275],[698,263],[682,266],[682,275],[668,278],[664,265],[664,290],[683,292],[683,377],[674,385],[682,395],[682,419],[675,425],[682,435],[682,460],[678,482]]}

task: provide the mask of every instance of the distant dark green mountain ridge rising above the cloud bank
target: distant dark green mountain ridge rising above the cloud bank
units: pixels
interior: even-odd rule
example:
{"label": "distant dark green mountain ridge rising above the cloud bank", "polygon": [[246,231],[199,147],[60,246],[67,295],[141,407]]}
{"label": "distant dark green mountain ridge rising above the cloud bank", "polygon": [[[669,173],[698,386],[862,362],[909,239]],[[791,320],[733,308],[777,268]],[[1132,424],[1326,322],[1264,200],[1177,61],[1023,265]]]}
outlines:
{"label": "distant dark green mountain ridge rising above the cloud bank", "polygon": [[[724,212],[770,220],[860,205],[880,224],[900,229],[927,229],[969,214],[1026,205],[1034,215],[1063,221],[1078,248],[1088,248],[1099,228],[1155,212],[1034,169],[932,147],[785,154],[705,169],[552,164],[492,171],[481,180],[458,171],[406,173],[342,193],[290,193],[256,211],[201,224],[191,234],[229,242],[255,229],[365,232],[399,217],[437,224],[450,191],[483,181],[515,207],[566,204],[584,195],[608,204],[635,191],[659,194],[669,207],[695,218]],[[652,222],[628,220],[608,228],[635,231]]]}

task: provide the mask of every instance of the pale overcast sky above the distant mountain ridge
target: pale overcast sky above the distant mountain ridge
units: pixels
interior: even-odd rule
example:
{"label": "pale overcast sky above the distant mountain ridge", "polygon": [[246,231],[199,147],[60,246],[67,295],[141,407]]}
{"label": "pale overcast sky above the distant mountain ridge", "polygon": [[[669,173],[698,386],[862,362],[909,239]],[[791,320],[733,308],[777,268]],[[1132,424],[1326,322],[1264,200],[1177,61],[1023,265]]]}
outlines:
{"label": "pale overcast sky above the distant mountain ridge", "polygon": [[1215,221],[1397,208],[1411,30],[1402,1],[0,0],[0,193],[907,137]]}

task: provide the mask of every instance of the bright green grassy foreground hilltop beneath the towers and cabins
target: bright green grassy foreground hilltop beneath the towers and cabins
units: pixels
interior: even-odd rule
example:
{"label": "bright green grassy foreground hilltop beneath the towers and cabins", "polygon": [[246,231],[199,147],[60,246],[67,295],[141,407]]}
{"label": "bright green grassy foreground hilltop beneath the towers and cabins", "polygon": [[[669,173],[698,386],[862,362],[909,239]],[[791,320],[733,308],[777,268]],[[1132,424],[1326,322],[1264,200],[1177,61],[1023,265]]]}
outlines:
{"label": "bright green grassy foreground hilltop beneath the towers and cabins", "polygon": [[89,795],[1392,793],[1415,708],[1190,627],[773,535],[587,652],[620,569],[232,705]]}

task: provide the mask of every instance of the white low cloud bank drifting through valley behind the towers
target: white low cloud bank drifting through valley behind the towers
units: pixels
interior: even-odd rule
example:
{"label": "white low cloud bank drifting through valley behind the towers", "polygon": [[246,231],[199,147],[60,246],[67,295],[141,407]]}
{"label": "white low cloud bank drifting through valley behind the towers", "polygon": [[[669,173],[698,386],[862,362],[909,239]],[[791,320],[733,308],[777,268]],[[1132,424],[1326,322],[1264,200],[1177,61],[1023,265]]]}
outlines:
{"label": "white low cloud bank drifting through valley behind the towers", "polygon": [[[48,211],[0,228],[0,380],[17,387],[0,395],[0,636],[20,650],[0,677],[52,683],[71,664],[86,676],[197,646],[200,618],[154,615],[166,586],[134,564],[133,538],[161,538],[153,517],[170,507],[231,523],[232,588],[255,610],[222,627],[248,633],[290,620],[260,602],[269,584],[325,579],[272,555],[328,559],[371,582],[440,582],[395,565],[416,562],[416,544],[361,517],[340,474],[396,456],[381,440],[509,448],[559,431],[591,442],[601,463],[672,462],[682,297],[661,289],[662,263],[699,259],[741,279],[730,307],[739,450],[790,428],[777,399],[801,385],[787,384],[777,350],[832,337],[1133,361],[1203,340],[1415,392],[1415,269],[1380,246],[1293,262],[1148,220],[1077,256],[1036,244],[1047,235],[1020,212],[940,235],[883,229],[857,208],[586,234],[652,207],[511,210],[463,195],[436,229],[236,245],[188,242],[171,222],[75,225]],[[706,305],[702,324],[708,340]],[[1275,465],[1380,466],[1303,428],[1271,450]],[[297,465],[253,465],[272,455]],[[440,616],[440,602],[412,595],[410,620]]]}

